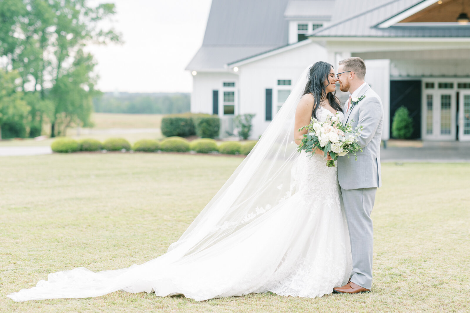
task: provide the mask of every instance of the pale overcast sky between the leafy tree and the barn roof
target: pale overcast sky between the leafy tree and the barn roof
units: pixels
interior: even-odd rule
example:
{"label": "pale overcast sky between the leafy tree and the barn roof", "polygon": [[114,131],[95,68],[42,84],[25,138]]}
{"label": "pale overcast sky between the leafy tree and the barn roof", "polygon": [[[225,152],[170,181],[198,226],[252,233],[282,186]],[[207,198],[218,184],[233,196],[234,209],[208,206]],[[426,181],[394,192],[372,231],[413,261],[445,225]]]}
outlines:
{"label": "pale overcast sky between the leafy tree and the barn roof", "polygon": [[89,46],[103,92],[191,92],[184,69],[202,44],[211,0],[92,0],[116,4],[123,45]]}

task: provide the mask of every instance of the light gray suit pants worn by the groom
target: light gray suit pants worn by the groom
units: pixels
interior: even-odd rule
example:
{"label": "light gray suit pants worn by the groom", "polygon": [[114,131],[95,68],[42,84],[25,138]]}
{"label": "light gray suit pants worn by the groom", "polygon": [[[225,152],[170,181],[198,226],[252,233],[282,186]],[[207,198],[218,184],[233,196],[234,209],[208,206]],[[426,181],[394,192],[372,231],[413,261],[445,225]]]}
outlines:
{"label": "light gray suit pants worn by the groom", "polygon": [[343,189],[341,193],[351,240],[351,282],[366,288],[372,287],[373,227],[370,214],[377,188]]}

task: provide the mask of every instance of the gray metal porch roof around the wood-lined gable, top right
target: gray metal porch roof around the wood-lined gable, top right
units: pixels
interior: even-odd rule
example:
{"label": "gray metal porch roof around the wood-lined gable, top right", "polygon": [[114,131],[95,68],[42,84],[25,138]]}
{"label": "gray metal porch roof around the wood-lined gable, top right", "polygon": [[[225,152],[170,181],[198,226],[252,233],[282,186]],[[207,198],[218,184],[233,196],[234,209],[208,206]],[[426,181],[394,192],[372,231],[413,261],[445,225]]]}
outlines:
{"label": "gray metal porch roof around the wood-lined gable, top right", "polygon": [[[334,23],[313,32],[314,37],[470,37],[470,26],[376,25],[413,7],[422,0],[362,0],[360,7],[350,0],[337,0]],[[344,16],[350,16],[344,18]]]}

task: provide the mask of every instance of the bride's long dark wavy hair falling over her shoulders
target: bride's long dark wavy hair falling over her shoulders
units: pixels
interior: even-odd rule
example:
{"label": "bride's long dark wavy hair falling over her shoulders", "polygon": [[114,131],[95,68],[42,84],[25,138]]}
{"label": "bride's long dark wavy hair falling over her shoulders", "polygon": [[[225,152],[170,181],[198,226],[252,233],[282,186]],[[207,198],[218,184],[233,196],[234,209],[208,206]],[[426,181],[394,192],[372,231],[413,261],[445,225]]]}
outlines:
{"label": "bride's long dark wavy hair falling over her shoulders", "polygon": [[329,71],[333,65],[319,61],[312,65],[308,77],[308,82],[305,85],[304,95],[312,93],[315,104],[312,109],[313,118],[317,119],[317,111],[320,110],[321,101],[328,99],[329,105],[334,108],[337,112],[343,112],[339,99],[336,97],[336,91],[326,93],[325,89],[328,85],[325,85],[325,80],[329,82]]}

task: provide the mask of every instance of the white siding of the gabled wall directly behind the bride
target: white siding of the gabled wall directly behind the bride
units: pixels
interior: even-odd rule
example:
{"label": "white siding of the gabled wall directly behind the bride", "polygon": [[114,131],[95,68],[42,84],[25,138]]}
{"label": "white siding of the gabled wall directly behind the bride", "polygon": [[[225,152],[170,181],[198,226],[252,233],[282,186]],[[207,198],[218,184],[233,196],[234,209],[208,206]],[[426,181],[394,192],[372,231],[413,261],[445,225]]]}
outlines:
{"label": "white siding of the gabled wall directly behind the bride", "polygon": [[253,119],[251,138],[257,139],[270,122],[265,120],[266,89],[273,90],[274,117],[277,111],[277,90],[287,89],[287,86],[278,86],[277,80],[290,79],[292,87],[309,64],[326,60],[326,49],[316,43],[311,43],[240,66],[239,114],[256,114]]}

